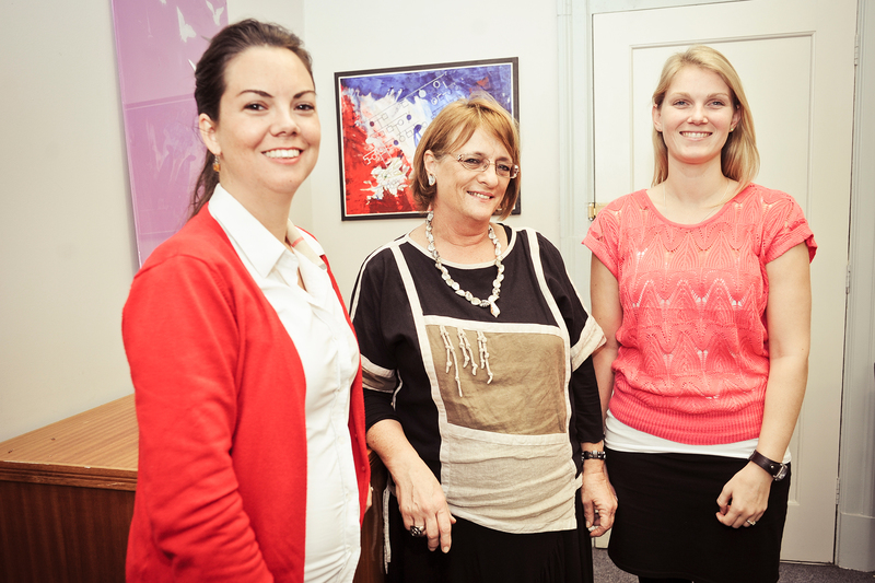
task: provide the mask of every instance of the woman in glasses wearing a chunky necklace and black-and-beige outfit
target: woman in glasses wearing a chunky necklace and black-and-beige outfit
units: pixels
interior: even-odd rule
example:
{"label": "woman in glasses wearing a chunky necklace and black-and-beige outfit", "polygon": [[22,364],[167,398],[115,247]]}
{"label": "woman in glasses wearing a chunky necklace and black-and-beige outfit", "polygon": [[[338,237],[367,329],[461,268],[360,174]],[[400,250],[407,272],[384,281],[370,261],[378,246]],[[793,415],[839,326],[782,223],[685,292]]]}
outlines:
{"label": "woman in glasses wearing a chunky necklace and black-and-beige outfit", "polygon": [[602,330],[556,247],[492,221],[516,203],[518,164],[498,103],[447,105],[413,159],[424,223],[355,283],[368,444],[390,474],[389,581],[592,581],[590,537],[612,522]]}

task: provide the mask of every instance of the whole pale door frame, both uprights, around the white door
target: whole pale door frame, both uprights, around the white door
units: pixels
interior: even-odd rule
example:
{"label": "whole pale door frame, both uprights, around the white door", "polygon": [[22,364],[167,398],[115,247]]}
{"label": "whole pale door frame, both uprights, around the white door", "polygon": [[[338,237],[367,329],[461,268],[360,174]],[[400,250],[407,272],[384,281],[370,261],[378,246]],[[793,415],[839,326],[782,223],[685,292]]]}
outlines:
{"label": "whole pale door frame, both uprights, around the white door", "polygon": [[[559,69],[559,233],[569,272],[588,305],[590,253],[581,245],[595,205],[593,128],[593,15],[678,5],[749,0],[557,0]],[[870,40],[866,43],[866,40]],[[849,242],[849,304],[842,393],[840,486],[833,561],[875,570],[875,403],[868,397],[875,360],[875,0],[858,0],[854,143]],[[864,106],[866,104],[868,107]],[[864,117],[863,114],[868,112]],[[854,324],[856,323],[856,324]],[[867,381],[866,381],[867,380]]]}

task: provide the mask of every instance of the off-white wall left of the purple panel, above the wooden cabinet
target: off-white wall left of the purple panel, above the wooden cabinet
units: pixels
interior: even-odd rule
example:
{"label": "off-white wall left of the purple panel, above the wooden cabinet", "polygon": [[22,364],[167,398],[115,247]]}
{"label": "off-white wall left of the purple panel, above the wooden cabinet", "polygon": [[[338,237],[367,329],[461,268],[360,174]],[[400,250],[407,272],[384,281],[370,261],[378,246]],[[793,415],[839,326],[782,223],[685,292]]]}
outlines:
{"label": "off-white wall left of the purple panel, above the wooden cabinet", "polygon": [[131,392],[109,2],[0,4],[0,440]]}

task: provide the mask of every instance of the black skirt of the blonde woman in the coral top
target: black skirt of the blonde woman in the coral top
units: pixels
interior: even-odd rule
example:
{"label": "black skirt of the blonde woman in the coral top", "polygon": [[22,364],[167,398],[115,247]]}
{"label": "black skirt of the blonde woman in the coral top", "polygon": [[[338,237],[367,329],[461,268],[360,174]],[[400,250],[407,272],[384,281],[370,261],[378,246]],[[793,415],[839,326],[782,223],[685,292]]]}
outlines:
{"label": "black skirt of the blonde woman in the coral top", "polygon": [[632,574],[696,583],[774,583],[786,518],[790,475],[772,482],[755,526],[716,518],[723,486],[746,459],[609,451],[608,475],[618,508],[608,555]]}

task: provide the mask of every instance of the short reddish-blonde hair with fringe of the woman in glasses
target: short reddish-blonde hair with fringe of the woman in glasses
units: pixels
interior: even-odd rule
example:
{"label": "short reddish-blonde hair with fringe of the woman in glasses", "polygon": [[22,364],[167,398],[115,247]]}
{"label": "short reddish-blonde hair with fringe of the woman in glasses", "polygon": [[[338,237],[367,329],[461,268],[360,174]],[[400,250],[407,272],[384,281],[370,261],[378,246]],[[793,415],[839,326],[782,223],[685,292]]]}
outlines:
{"label": "short reddish-blonde hair with fringe of the woman in glasses", "polygon": [[[471,136],[482,129],[493,136],[511,155],[513,164],[520,164],[520,131],[516,120],[511,117],[491,95],[478,94],[468,100],[458,100],[451,103],[439,113],[425,128],[422,140],[417,145],[413,154],[413,168],[410,174],[410,191],[417,210],[424,212],[429,209],[438,186],[429,186],[429,173],[425,171],[425,152],[431,150],[436,159],[462,147],[471,139]],[[520,198],[520,175],[511,178],[504,199],[501,205],[501,219],[506,219],[516,200]]]}

